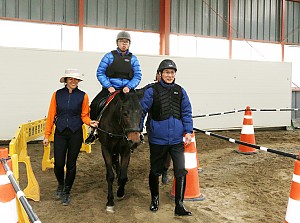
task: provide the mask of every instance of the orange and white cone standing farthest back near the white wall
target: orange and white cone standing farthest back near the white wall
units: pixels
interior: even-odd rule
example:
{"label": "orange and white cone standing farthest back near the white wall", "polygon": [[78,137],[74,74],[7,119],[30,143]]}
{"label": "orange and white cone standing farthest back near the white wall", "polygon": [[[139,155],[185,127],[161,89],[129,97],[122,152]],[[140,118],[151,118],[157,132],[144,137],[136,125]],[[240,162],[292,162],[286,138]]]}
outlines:
{"label": "orange and white cone standing farthest back near the white wall", "polygon": [[[245,110],[240,141],[255,144],[252,111],[249,106],[247,106]],[[256,149],[249,146],[239,145],[238,152],[243,154],[253,154],[256,153]]]}

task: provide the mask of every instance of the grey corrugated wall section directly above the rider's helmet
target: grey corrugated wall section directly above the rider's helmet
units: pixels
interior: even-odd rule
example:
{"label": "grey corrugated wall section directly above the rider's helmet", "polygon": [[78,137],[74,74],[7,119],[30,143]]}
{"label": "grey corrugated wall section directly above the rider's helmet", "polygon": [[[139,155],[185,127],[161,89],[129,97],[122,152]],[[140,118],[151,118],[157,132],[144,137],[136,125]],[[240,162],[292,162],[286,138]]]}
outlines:
{"label": "grey corrugated wall section directly above the rider's helmet", "polygon": [[159,31],[160,0],[85,0],[85,24]]}

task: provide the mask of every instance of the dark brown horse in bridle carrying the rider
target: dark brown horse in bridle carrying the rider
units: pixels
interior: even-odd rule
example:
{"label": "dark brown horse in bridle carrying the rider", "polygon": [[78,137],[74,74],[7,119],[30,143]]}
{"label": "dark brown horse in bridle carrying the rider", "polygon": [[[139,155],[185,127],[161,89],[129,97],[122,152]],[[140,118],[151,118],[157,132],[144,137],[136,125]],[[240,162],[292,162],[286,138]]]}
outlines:
{"label": "dark brown horse in bridle carrying the rider", "polygon": [[114,213],[114,171],[118,180],[117,198],[121,200],[125,195],[130,155],[140,144],[139,125],[142,118],[140,100],[142,96],[143,91],[130,91],[126,94],[122,91],[117,92],[108,98],[99,114],[97,132],[106,165],[108,187],[106,211],[110,213]]}

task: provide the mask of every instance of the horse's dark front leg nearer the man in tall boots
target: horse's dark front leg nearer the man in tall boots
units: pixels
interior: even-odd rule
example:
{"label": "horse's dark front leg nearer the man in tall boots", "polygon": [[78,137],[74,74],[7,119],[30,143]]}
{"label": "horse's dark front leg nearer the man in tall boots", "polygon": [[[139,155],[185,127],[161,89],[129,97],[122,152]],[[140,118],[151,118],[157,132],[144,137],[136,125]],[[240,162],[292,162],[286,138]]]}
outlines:
{"label": "horse's dark front leg nearer the man in tall boots", "polygon": [[128,171],[129,161],[130,161],[130,150],[129,152],[125,152],[121,154],[121,169],[120,169],[120,176],[118,178],[118,190],[117,190],[118,199],[123,199],[125,195],[125,185],[128,180],[127,171]]}

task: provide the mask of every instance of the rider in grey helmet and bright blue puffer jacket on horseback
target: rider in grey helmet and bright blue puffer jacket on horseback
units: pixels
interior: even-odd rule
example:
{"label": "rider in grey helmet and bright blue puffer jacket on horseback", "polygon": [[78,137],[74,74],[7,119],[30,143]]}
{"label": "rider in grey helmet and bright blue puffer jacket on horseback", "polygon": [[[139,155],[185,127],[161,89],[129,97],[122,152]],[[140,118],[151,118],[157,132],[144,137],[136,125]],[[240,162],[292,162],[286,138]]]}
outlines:
{"label": "rider in grey helmet and bright blue puffer jacket on horseback", "polygon": [[[118,33],[117,49],[104,55],[97,69],[97,79],[102,85],[101,92],[91,102],[91,119],[96,120],[109,94],[116,90],[128,93],[135,89],[142,79],[140,63],[135,55],[129,52],[131,36],[126,31]],[[97,138],[92,129],[86,144],[91,144]]]}

